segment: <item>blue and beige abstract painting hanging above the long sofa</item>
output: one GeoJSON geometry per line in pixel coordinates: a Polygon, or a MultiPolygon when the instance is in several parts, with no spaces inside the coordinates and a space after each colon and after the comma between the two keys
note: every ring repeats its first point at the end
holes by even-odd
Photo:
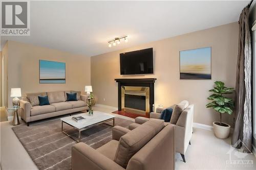
{"type": "Polygon", "coordinates": [[[39,60],[39,83],[66,83],[66,63],[39,60]]]}

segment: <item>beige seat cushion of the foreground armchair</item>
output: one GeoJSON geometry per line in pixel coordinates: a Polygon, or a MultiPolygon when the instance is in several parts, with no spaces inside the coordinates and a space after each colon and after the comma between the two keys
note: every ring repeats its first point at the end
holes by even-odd
{"type": "Polygon", "coordinates": [[[115,159],[116,150],[118,147],[119,141],[117,140],[111,140],[108,143],[102,145],[102,147],[99,147],[97,151],[101,153],[102,155],[110,158],[111,160],[115,159]]]}

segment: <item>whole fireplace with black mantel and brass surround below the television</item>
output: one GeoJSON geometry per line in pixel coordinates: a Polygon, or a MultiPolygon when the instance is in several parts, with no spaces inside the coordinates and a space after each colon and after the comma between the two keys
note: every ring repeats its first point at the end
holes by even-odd
{"type": "Polygon", "coordinates": [[[118,110],[133,113],[154,111],[153,79],[115,79],[118,82],[118,110]]]}

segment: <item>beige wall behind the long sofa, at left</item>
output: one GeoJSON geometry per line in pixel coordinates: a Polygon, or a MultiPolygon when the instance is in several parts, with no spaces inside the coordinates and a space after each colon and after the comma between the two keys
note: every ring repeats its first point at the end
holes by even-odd
{"type": "MultiPolygon", "coordinates": [[[[29,92],[80,90],[91,84],[90,57],[75,55],[49,48],[16,41],[8,41],[8,96],[11,88],[22,88],[22,95],[29,92]],[[39,84],[39,60],[66,63],[65,84],[39,84]]],[[[8,99],[12,106],[12,98],[8,99]]]]}

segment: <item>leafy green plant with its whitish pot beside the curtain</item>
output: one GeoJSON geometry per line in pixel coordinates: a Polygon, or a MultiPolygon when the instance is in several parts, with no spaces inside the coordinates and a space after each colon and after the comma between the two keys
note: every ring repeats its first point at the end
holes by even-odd
{"type": "Polygon", "coordinates": [[[214,94],[211,94],[207,99],[211,102],[206,105],[206,108],[213,108],[220,113],[220,122],[214,122],[214,134],[220,139],[228,137],[230,132],[230,125],[223,123],[221,116],[222,113],[232,114],[234,108],[234,102],[231,98],[227,98],[225,94],[232,94],[234,88],[227,88],[221,81],[215,82],[214,89],[209,90],[214,94]]]}

